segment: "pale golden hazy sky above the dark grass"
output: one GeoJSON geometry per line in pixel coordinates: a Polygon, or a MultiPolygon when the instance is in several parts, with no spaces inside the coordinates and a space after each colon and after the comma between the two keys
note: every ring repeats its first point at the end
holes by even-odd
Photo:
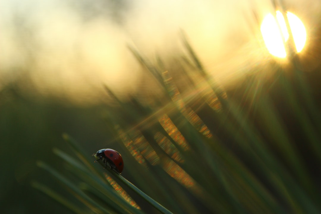
{"type": "MultiPolygon", "coordinates": [[[[43,95],[97,99],[94,94],[102,90],[102,83],[133,91],[139,64],[126,45],[135,45],[151,60],[156,53],[178,56],[180,29],[221,81],[237,78],[266,58],[256,38],[253,11],[261,21],[272,9],[269,0],[106,2],[1,1],[0,88],[28,73],[43,95]]],[[[320,14],[318,0],[290,2],[303,21],[311,23],[320,14]]]]}

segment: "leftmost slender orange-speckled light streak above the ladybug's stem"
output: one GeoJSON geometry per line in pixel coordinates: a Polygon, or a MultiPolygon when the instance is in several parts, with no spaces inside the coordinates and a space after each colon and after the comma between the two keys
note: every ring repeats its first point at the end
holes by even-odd
{"type": "Polygon", "coordinates": [[[142,154],[139,152],[139,150],[136,148],[133,141],[129,138],[129,136],[120,128],[119,125],[115,125],[115,130],[117,131],[117,134],[121,141],[124,143],[128,151],[132,154],[132,156],[136,159],[136,161],[140,164],[142,164],[144,167],[147,167],[145,163],[145,159],[142,156],[142,154]]]}

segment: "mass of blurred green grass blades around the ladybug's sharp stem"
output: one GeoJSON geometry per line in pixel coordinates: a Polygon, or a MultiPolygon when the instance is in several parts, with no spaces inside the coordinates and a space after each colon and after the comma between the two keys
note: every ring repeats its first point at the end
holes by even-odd
{"type": "Polygon", "coordinates": [[[320,111],[306,74],[299,66],[285,73],[274,64],[272,81],[250,75],[239,87],[223,91],[183,41],[188,56],[175,62],[188,88],[160,57],[154,65],[134,48],[163,97],[148,104],[136,97],[121,101],[105,87],[117,103],[106,115],[108,132],[123,156],[124,176],[138,190],[126,187],[122,176],[97,168],[66,135],[78,159],[58,149],[54,153],[73,176],[38,165],[85,210],[43,184],[33,186],[75,213],[157,213],[138,191],[173,213],[319,213],[320,111]]]}

